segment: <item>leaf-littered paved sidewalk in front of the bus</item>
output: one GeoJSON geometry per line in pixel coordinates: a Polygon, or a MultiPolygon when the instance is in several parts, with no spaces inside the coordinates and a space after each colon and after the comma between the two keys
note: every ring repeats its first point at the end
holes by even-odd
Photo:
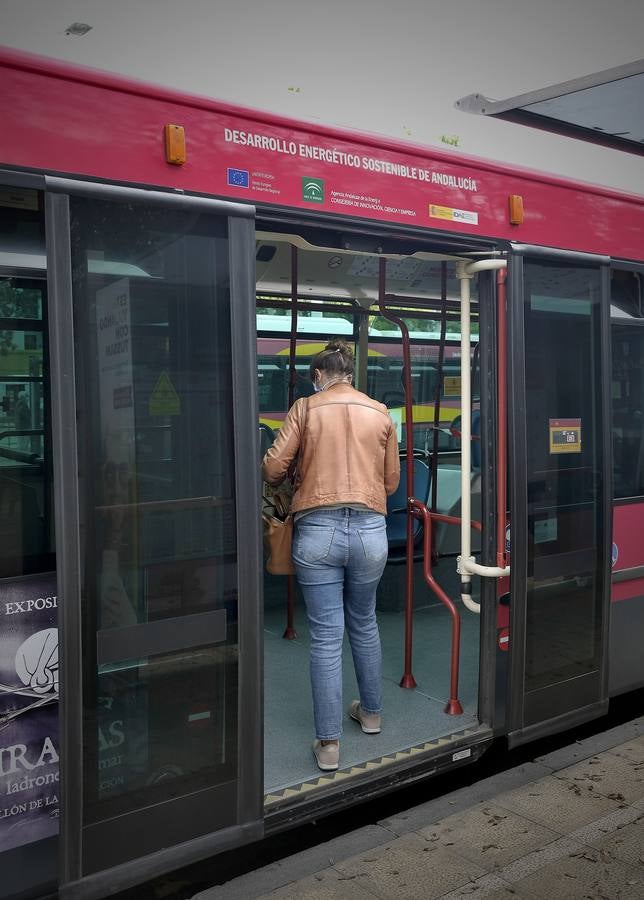
{"type": "Polygon", "coordinates": [[[193,900],[642,900],[644,717],[193,900]]]}

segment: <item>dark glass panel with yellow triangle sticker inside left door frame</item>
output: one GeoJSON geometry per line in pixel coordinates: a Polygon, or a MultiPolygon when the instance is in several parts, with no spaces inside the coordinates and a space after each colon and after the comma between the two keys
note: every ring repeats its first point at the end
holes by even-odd
{"type": "Polygon", "coordinates": [[[151,826],[123,826],[107,847],[88,837],[92,871],[236,822],[227,219],[72,198],[71,251],[84,824],[211,791],[162,838],[151,826]]]}

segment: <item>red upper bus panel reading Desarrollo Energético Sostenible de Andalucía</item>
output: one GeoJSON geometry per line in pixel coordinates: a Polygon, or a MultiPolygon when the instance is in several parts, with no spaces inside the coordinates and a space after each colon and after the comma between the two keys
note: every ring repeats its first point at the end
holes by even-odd
{"type": "Polygon", "coordinates": [[[0,48],[0,78],[3,166],[642,256],[642,196],[290,121],[7,48],[0,48]],[[183,166],[165,161],[171,123],[185,128],[183,166]],[[523,197],[522,225],[509,223],[511,194],[523,197]]]}

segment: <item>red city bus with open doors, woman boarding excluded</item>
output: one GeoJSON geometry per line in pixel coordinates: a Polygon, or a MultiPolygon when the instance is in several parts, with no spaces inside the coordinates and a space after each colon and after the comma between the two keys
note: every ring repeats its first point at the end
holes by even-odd
{"type": "Polygon", "coordinates": [[[0,71],[8,895],[106,896],[644,684],[643,197],[0,71]],[[320,778],[259,460],[338,333],[405,477],[383,731],[320,778]]]}

